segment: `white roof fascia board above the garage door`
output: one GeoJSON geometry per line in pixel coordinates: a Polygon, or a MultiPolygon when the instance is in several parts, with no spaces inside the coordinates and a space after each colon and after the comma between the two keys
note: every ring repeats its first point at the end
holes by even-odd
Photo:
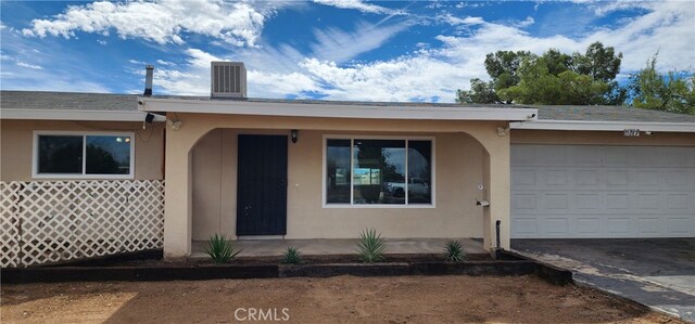
{"type": "Polygon", "coordinates": [[[695,122],[534,120],[510,122],[509,127],[511,129],[529,130],[623,131],[626,129],[639,129],[641,131],[695,132],[695,122]]]}

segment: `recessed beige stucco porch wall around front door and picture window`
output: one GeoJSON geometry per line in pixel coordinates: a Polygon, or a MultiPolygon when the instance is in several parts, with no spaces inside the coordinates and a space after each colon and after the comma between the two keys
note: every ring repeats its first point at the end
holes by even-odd
{"type": "MultiPolygon", "coordinates": [[[[216,129],[193,148],[193,239],[236,235],[237,135],[287,130],[216,129]]],[[[386,237],[482,237],[482,146],[464,133],[300,131],[288,146],[287,238],[357,237],[365,228],[386,237]],[[434,139],[434,208],[321,206],[324,135],[418,135],[434,139]]]]}

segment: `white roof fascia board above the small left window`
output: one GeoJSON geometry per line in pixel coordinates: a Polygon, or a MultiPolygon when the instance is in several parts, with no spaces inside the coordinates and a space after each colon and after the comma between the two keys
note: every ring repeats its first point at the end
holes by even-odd
{"type": "MultiPolygon", "coordinates": [[[[143,121],[146,115],[144,112],[132,111],[0,109],[0,119],[143,121]]],[[[165,120],[166,117],[154,115],[154,121],[165,120]]]]}

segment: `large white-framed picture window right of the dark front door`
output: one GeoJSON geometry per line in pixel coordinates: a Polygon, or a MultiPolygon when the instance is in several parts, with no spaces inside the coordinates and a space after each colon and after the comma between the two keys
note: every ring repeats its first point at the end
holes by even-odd
{"type": "Polygon", "coordinates": [[[327,139],[326,205],[432,204],[432,140],[327,139]]]}

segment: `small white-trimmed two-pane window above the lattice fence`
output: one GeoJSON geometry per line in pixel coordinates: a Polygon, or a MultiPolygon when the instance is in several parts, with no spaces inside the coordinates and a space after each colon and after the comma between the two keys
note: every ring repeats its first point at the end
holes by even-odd
{"type": "Polygon", "coordinates": [[[134,133],[36,132],[35,178],[131,179],[134,133]]]}

